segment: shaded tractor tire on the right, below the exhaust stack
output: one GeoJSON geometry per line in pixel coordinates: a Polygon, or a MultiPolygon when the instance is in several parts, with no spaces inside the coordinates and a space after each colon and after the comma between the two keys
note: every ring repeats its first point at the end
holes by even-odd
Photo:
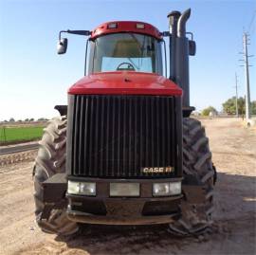
{"type": "Polygon", "coordinates": [[[182,216],[170,224],[170,231],[177,235],[202,234],[212,224],[216,172],[211,162],[205,129],[200,121],[193,118],[183,118],[183,174],[191,174],[198,182],[203,183],[206,195],[200,204],[190,203],[184,197],[180,207],[182,216]]]}

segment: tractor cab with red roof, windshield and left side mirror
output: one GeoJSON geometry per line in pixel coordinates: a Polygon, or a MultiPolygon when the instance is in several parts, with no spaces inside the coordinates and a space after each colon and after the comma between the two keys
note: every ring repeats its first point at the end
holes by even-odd
{"type": "MultiPolygon", "coordinates": [[[[152,25],[133,21],[108,22],[89,33],[87,45],[89,43],[90,50],[85,75],[110,71],[163,75],[163,39],[152,25]]],[[[64,53],[66,46],[59,46],[58,52],[64,53]]]]}

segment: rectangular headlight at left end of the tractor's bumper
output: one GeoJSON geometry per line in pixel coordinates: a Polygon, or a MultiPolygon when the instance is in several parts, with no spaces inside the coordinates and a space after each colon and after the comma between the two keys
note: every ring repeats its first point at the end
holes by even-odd
{"type": "Polygon", "coordinates": [[[69,194],[83,194],[83,195],[96,195],[95,182],[67,182],[67,193],[69,194]]]}

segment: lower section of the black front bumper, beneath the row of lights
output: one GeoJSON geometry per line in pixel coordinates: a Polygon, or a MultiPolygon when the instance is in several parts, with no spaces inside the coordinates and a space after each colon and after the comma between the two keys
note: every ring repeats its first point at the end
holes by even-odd
{"type": "Polygon", "coordinates": [[[170,223],[179,216],[181,195],[163,199],[99,200],[68,196],[68,218],[75,222],[109,225],[146,225],[170,223]]]}

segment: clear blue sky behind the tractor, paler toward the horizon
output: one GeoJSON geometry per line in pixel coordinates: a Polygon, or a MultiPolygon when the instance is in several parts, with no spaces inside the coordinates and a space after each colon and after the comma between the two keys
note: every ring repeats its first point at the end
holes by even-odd
{"type": "MultiPolygon", "coordinates": [[[[245,95],[239,67],[243,29],[256,1],[4,1],[0,0],[0,120],[52,118],[66,103],[67,88],[83,75],[85,41],[69,36],[68,50],[57,55],[61,29],[93,29],[105,21],[139,20],[168,29],[166,15],[192,8],[188,31],[197,43],[191,58],[191,104],[197,110],[245,95]]],[[[249,53],[256,56],[256,17],[250,26],[249,53]]],[[[250,59],[251,100],[256,100],[256,57],[250,59]]]]}

